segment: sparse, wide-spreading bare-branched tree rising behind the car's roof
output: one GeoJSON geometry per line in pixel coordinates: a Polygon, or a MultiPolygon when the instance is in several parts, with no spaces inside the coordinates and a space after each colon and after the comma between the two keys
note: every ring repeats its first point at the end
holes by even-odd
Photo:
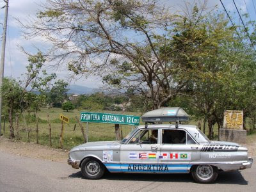
{"type": "Polygon", "coordinates": [[[52,42],[45,55],[56,65],[68,63],[75,75],[104,76],[116,89],[133,88],[156,109],[187,83],[177,76],[180,63],[166,54],[177,19],[154,0],[48,0],[35,20],[20,24],[28,38],[52,42]]]}

